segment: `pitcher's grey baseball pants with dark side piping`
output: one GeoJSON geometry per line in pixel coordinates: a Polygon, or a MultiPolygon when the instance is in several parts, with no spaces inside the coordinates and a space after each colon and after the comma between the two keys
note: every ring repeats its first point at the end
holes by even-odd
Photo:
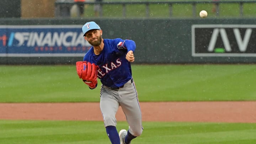
{"type": "Polygon", "coordinates": [[[122,107],[126,116],[129,132],[134,136],[140,136],[143,131],[142,113],[133,80],[129,80],[120,89],[110,89],[109,87],[101,86],[100,109],[105,127],[116,127],[116,113],[119,106],[122,107]]]}

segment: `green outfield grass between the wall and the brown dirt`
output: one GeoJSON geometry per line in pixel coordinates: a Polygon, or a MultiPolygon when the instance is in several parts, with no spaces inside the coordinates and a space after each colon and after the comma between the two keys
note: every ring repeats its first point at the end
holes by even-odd
{"type": "MultiPolygon", "coordinates": [[[[140,101],[256,100],[255,65],[132,65],[140,101]]],[[[75,65],[0,66],[0,102],[98,102],[75,65]]]]}

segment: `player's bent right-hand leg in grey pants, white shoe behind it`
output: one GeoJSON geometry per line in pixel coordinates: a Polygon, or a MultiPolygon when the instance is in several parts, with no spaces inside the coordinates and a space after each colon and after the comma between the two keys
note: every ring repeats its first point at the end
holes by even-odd
{"type": "Polygon", "coordinates": [[[129,124],[125,137],[126,143],[129,143],[132,139],[142,134],[142,113],[134,83],[126,84],[123,90],[119,92],[119,96],[122,97],[122,100],[119,102],[129,124]]]}

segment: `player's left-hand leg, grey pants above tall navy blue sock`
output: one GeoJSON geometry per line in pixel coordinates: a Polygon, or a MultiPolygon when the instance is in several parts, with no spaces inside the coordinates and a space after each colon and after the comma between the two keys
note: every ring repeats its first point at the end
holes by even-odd
{"type": "Polygon", "coordinates": [[[106,127],[108,138],[112,144],[120,144],[119,134],[116,129],[116,112],[119,103],[113,93],[101,88],[100,109],[106,127]]]}

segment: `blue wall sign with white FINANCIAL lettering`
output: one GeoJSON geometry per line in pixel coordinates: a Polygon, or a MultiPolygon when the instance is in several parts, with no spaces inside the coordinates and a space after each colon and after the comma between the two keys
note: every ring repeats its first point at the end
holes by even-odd
{"type": "Polygon", "coordinates": [[[0,57],[81,57],[90,47],[80,25],[0,26],[0,57]]]}

